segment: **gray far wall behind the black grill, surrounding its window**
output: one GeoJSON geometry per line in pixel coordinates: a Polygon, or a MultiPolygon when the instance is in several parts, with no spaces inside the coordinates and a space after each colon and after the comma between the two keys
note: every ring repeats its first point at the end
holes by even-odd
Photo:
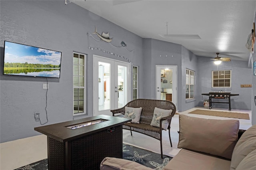
{"type": "MultiPolygon", "coordinates": [[[[212,71],[213,70],[232,70],[232,88],[222,89],[227,92],[239,94],[239,96],[231,97],[231,108],[240,110],[251,110],[251,88],[241,88],[241,84],[250,84],[251,82],[251,69],[248,68],[247,61],[231,60],[230,62],[222,62],[220,65],[215,65],[212,60],[207,57],[198,57],[198,74],[197,82],[200,85],[198,88],[197,105],[203,106],[204,99],[209,99],[208,96],[202,96],[201,93],[208,93],[210,91],[219,91],[220,89],[212,88],[212,71]]],[[[219,100],[220,101],[220,100],[219,100]]],[[[227,100],[223,100],[228,102],[227,100]]],[[[212,103],[212,107],[228,108],[225,103],[212,103]]]]}

